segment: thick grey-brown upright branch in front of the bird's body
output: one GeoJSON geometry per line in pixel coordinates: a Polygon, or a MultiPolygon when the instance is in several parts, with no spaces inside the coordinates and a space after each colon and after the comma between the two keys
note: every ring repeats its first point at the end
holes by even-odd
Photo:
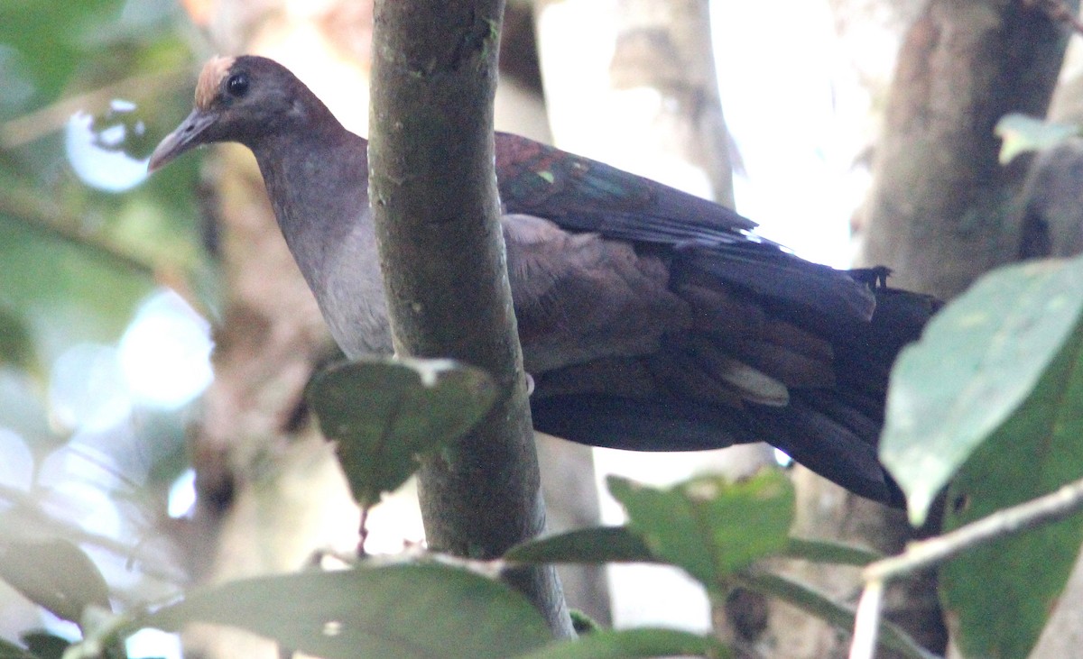
{"type": "MultiPolygon", "coordinates": [[[[430,546],[472,557],[498,556],[545,525],[493,170],[503,10],[503,0],[383,0],[373,37],[369,185],[395,351],[461,359],[504,392],[420,472],[430,546]]],[[[508,579],[554,632],[571,633],[551,568],[508,579]]]]}

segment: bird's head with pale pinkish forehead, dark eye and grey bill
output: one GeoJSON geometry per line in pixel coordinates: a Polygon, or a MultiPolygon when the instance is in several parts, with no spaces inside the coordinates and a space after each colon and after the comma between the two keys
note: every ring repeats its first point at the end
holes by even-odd
{"type": "MultiPolygon", "coordinates": [[[[199,74],[195,108],[151,155],[154,171],[181,154],[214,142],[249,148],[288,130],[314,109],[315,96],[286,67],[266,57],[214,57],[199,74]]],[[[318,101],[316,111],[325,110],[318,101]]]]}

